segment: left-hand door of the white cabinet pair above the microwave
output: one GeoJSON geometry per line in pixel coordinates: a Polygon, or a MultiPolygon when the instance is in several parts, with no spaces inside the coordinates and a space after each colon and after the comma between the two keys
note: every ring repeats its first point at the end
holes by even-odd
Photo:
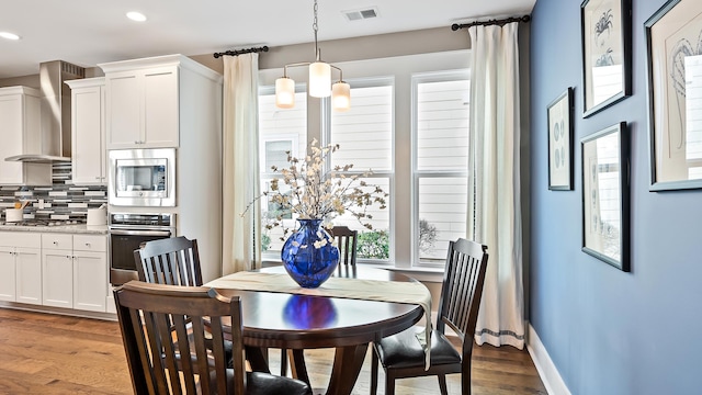
{"type": "Polygon", "coordinates": [[[106,77],[107,148],[134,148],[144,139],[141,82],[136,72],[106,77]]]}

